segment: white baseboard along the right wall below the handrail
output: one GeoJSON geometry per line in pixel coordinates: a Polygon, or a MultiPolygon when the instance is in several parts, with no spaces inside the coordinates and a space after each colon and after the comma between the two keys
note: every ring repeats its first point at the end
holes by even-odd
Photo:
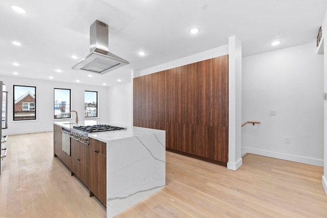
{"type": "Polygon", "coordinates": [[[244,147],[242,151],[243,151],[243,153],[257,154],[257,155],[273,157],[273,158],[278,158],[278,159],[283,159],[283,160],[290,160],[290,161],[299,162],[299,163],[306,163],[306,164],[315,165],[315,166],[323,166],[323,160],[309,158],[309,157],[301,157],[301,156],[296,156],[296,155],[283,154],[283,153],[278,153],[278,152],[271,152],[271,151],[252,149],[252,148],[246,148],[246,147],[244,147]]]}

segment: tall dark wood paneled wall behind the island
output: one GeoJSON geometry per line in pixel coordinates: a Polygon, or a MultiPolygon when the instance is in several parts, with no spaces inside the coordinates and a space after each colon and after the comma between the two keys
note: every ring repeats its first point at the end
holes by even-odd
{"type": "Polygon", "coordinates": [[[166,130],[169,150],[228,162],[228,55],[133,79],[134,126],[166,130]]]}

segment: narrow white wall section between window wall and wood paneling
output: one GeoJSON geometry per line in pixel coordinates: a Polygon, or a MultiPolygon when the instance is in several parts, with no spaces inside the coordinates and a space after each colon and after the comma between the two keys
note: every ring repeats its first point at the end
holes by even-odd
{"type": "Polygon", "coordinates": [[[110,86],[107,101],[109,123],[132,126],[132,83],[110,86]]]}

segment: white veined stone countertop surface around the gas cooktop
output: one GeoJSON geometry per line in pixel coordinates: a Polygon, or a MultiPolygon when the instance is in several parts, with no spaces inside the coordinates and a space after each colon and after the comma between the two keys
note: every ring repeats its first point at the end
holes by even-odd
{"type": "Polygon", "coordinates": [[[141,135],[147,135],[152,134],[156,132],[165,132],[164,130],[156,130],[156,129],[148,129],[148,128],[142,128],[142,127],[133,127],[133,126],[126,126],[126,125],[120,125],[120,124],[109,124],[106,122],[100,122],[97,120],[82,120],[78,123],[78,125],[70,122],[54,122],[54,124],[64,128],[71,130],[75,126],[92,126],[92,125],[98,125],[98,124],[106,124],[116,127],[124,127],[127,128],[126,130],[114,130],[114,131],[106,131],[106,132],[96,132],[96,133],[88,133],[88,137],[97,139],[99,141],[103,141],[105,143],[122,139],[122,138],[129,138],[129,137],[135,137],[135,136],[141,136],[141,135]]]}

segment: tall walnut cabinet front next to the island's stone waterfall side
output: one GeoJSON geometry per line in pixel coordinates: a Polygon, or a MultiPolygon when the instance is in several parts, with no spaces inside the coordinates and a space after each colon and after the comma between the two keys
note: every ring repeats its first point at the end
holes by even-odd
{"type": "Polygon", "coordinates": [[[106,143],[90,138],[89,139],[90,157],[90,196],[97,199],[106,207],[107,200],[107,161],[106,143]]]}

